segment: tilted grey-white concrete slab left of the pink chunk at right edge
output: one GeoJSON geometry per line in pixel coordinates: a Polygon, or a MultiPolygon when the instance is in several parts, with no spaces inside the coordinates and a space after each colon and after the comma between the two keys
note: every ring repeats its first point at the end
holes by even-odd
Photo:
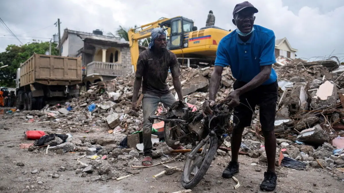
{"type": "Polygon", "coordinates": [[[315,125],[312,128],[302,130],[297,140],[307,144],[322,145],[324,142],[329,142],[331,137],[326,135],[320,125],[315,125]]]}

